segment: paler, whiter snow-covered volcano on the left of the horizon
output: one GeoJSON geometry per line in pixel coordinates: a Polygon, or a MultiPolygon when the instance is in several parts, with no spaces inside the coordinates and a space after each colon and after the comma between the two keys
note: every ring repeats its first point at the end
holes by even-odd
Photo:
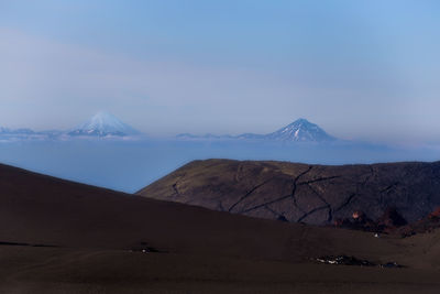
{"type": "Polygon", "coordinates": [[[122,122],[113,115],[107,112],[98,112],[87,122],[78,126],[69,132],[70,135],[134,135],[140,132],[129,124],[122,122]]]}

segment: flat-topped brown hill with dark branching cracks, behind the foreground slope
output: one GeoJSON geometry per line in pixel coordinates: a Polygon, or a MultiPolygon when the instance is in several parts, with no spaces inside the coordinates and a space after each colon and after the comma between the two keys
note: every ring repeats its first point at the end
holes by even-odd
{"type": "Polygon", "coordinates": [[[440,162],[306,165],[287,162],[195,161],[138,193],[253,217],[329,224],[388,207],[409,222],[440,205],[440,162]]]}

